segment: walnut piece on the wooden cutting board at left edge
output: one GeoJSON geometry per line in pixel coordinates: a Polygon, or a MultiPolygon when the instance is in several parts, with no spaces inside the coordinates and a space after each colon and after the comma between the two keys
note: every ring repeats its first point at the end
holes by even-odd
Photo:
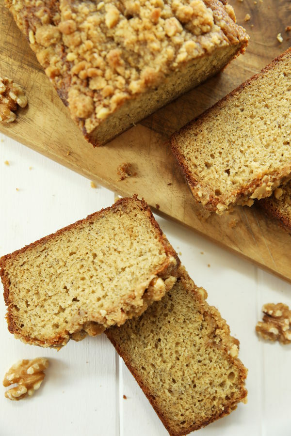
{"type": "Polygon", "coordinates": [[[13,80],[0,77],[0,121],[3,123],[15,121],[14,111],[17,109],[17,105],[21,108],[25,108],[27,105],[24,90],[13,80]]]}

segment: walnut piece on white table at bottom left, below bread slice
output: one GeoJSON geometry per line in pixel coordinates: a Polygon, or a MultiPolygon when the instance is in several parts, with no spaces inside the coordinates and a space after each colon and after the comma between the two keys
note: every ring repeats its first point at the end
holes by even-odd
{"type": "Polygon", "coordinates": [[[5,397],[9,400],[22,400],[27,395],[32,395],[39,389],[45,378],[44,370],[49,366],[46,358],[35,358],[32,360],[19,360],[5,374],[3,386],[17,384],[16,387],[6,390],[5,397]]]}

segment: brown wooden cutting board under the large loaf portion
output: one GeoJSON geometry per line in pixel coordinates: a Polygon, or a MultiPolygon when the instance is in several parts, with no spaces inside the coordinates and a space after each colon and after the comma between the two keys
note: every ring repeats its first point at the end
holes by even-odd
{"type": "MultiPolygon", "coordinates": [[[[178,98],[104,147],[93,148],[71,121],[67,109],[36,61],[26,39],[0,0],[0,76],[25,89],[29,105],[16,122],[0,125],[7,136],[79,172],[122,196],[144,197],[157,213],[173,218],[256,265],[291,281],[291,237],[258,207],[237,207],[207,218],[180,175],[169,136],[209,108],[290,46],[290,0],[232,0],[238,23],[251,40],[244,56],[202,86],[178,98]],[[244,21],[246,14],[250,15],[244,21]],[[277,34],[284,41],[279,43],[277,34]],[[119,180],[127,162],[134,175],[119,180]]],[[[193,262],[195,260],[193,259],[193,262]]]]}

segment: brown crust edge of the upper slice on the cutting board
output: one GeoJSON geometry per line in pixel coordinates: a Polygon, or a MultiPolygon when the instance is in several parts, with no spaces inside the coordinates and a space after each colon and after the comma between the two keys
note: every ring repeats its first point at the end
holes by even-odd
{"type": "MultiPolygon", "coordinates": [[[[185,177],[189,188],[195,198],[195,200],[199,201],[197,197],[195,196],[194,190],[197,184],[199,183],[198,179],[194,177],[192,172],[189,170],[187,162],[185,157],[182,155],[182,153],[179,150],[178,147],[178,137],[180,135],[183,135],[184,133],[188,132],[194,126],[195,124],[203,124],[205,119],[207,118],[208,114],[213,109],[220,109],[223,107],[225,103],[227,103],[232,97],[236,96],[239,93],[242,93],[242,91],[252,84],[255,80],[262,77],[267,71],[273,69],[275,65],[281,61],[283,61],[286,57],[291,56],[291,48],[288,48],[285,52],[277,56],[272,62],[270,62],[268,65],[266,65],[260,73],[255,74],[251,78],[247,79],[245,82],[243,82],[241,85],[239,85],[236,89],[231,91],[229,94],[227,94],[224,98],[219,100],[217,103],[215,103],[213,106],[211,106],[209,109],[205,110],[202,114],[198,115],[194,120],[187,123],[185,126],[183,126],[178,132],[175,132],[171,137],[171,148],[172,152],[176,158],[176,161],[178,162],[178,165],[181,169],[181,172],[183,176],[185,177]]],[[[270,180],[277,180],[282,179],[282,184],[285,184],[290,179],[290,173],[291,173],[291,164],[288,167],[285,167],[281,172],[273,172],[269,174],[270,180]]],[[[236,203],[239,203],[240,199],[248,198],[250,192],[253,192],[255,188],[260,187],[262,183],[262,178],[264,174],[260,178],[256,178],[248,185],[245,185],[241,187],[239,190],[235,190],[232,192],[232,195],[235,195],[237,197],[236,203]]],[[[212,192],[209,193],[209,202],[204,205],[204,207],[210,211],[216,211],[217,210],[217,204],[221,202],[221,198],[219,196],[213,195],[212,192]]]]}

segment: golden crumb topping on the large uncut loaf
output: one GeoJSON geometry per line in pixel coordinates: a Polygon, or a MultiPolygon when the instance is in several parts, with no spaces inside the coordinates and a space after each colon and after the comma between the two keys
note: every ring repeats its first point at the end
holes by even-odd
{"type": "Polygon", "coordinates": [[[6,3],[87,133],[181,64],[239,39],[230,24],[232,7],[215,16],[209,1],[55,0],[50,8],[45,0],[6,3]]]}

